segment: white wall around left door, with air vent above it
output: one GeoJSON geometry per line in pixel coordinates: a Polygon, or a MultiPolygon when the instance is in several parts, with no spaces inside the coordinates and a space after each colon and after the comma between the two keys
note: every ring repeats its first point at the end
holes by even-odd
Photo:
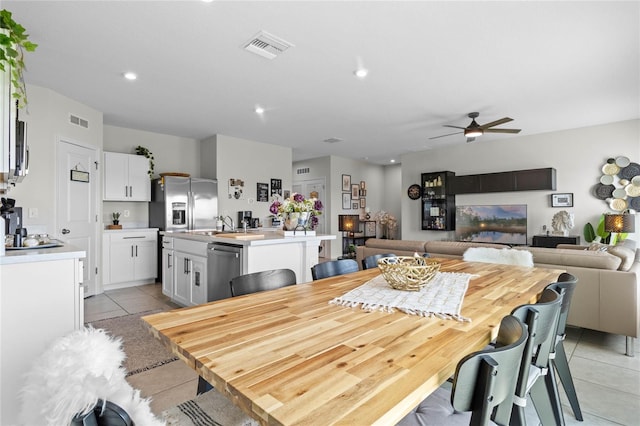
{"type": "Polygon", "coordinates": [[[24,226],[29,233],[56,235],[56,158],[58,140],[102,149],[102,113],[52,90],[27,85],[29,105],[20,111],[27,122],[29,174],[5,197],[15,198],[23,208],[24,226]],[[85,129],[69,122],[69,114],[89,122],[85,129]],[[29,208],[38,209],[38,217],[30,218],[29,208]]]}

